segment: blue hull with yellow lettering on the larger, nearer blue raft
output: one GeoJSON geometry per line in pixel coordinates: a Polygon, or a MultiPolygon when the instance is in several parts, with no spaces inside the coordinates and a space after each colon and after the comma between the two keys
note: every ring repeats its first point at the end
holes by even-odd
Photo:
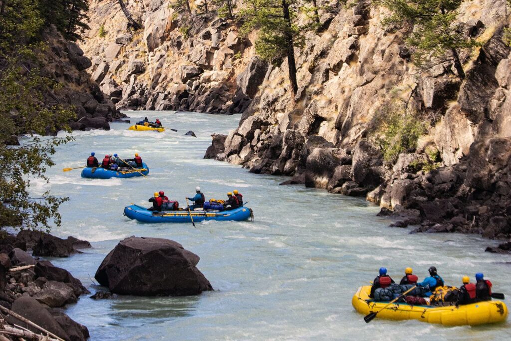
{"type": "MultiPolygon", "coordinates": [[[[248,220],[251,217],[251,210],[240,207],[230,211],[191,211],[193,221],[203,220],[248,220]]],[[[124,208],[124,215],[130,219],[141,222],[192,222],[188,210],[182,211],[160,211],[153,212],[148,209],[131,204],[124,208]]]]}

